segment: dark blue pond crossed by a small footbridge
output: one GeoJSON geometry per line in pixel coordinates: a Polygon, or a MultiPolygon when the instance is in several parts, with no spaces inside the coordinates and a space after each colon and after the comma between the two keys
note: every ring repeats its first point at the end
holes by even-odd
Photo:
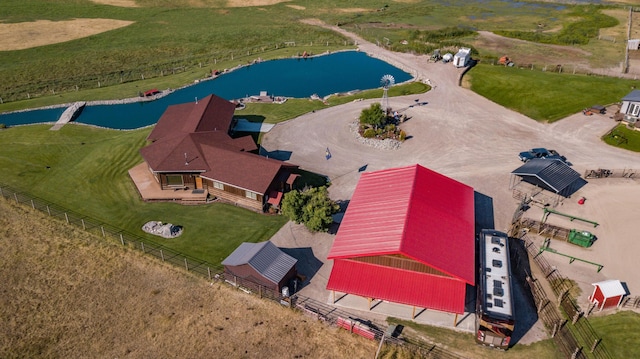
{"type": "MultiPolygon", "coordinates": [[[[86,106],[75,122],[113,129],[135,129],[158,121],[167,106],[193,102],[210,94],[227,100],[258,95],[306,98],[380,87],[384,75],[396,83],[412,76],[384,61],[358,51],[330,55],[263,61],[244,66],[214,79],[179,89],[155,101],[86,106]]],[[[41,109],[0,115],[7,126],[55,122],[64,108],[41,109]]]]}

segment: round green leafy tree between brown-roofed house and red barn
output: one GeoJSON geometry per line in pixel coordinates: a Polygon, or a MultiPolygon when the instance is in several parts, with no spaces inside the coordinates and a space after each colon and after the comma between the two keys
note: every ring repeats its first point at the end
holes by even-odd
{"type": "Polygon", "coordinates": [[[284,195],[282,214],[312,232],[326,232],[333,223],[332,215],[340,207],[329,198],[327,188],[315,187],[304,191],[293,190],[284,195]]]}

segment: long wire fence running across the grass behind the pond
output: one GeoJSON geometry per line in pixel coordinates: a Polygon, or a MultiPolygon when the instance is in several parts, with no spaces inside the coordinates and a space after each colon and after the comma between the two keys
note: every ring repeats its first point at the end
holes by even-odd
{"type": "Polygon", "coordinates": [[[305,51],[312,54],[314,50],[320,52],[328,47],[349,45],[355,44],[347,40],[296,39],[254,46],[237,51],[224,51],[207,55],[173,58],[165,62],[158,62],[153,65],[140,66],[133,69],[69,76],[64,79],[15,83],[2,90],[2,93],[0,93],[0,103],[73,92],[81,89],[86,90],[119,85],[126,82],[147,80],[191,70],[201,70],[203,78],[206,78],[212,76],[212,73],[216,70],[223,71],[224,69],[219,69],[222,63],[237,62],[239,64],[250,64],[260,61],[260,57],[265,56],[269,52],[283,48],[300,48],[302,53],[299,53],[298,56],[302,56],[305,51]]]}

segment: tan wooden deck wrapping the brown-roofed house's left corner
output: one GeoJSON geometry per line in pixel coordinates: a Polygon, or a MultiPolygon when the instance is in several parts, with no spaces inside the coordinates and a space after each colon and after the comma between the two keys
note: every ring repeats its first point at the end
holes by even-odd
{"type": "Polygon", "coordinates": [[[138,193],[140,193],[144,201],[206,203],[209,195],[207,190],[194,191],[192,188],[160,189],[158,182],[144,162],[130,169],[129,177],[131,177],[133,183],[135,183],[138,193]]]}

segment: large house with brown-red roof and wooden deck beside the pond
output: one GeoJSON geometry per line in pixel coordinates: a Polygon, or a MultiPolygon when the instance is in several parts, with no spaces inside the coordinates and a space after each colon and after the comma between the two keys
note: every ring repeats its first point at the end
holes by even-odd
{"type": "Polygon", "coordinates": [[[279,207],[297,166],[256,154],[251,136],[230,136],[234,111],[215,95],[168,107],[140,150],[144,163],[129,171],[142,197],[215,198],[259,212],[279,207]]]}

